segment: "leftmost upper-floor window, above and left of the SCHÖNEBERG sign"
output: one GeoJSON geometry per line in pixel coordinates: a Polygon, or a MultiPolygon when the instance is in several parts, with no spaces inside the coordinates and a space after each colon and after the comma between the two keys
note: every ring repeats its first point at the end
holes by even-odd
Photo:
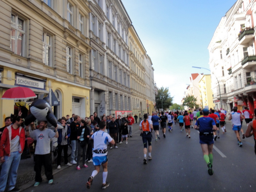
{"type": "Polygon", "coordinates": [[[17,55],[24,56],[24,20],[17,15],[11,16],[11,50],[17,55]]]}

